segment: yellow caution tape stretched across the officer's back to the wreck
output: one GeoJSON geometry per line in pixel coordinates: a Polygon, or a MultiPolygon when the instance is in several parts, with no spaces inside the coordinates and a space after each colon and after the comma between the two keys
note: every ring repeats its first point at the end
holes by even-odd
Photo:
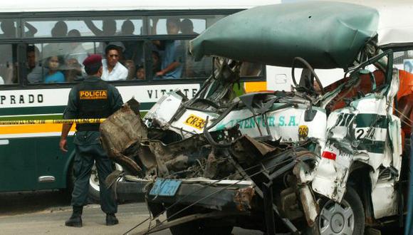
{"type": "Polygon", "coordinates": [[[51,119],[51,120],[0,120],[0,125],[36,125],[36,124],[90,124],[102,123],[105,118],[90,119],[51,119]]]}

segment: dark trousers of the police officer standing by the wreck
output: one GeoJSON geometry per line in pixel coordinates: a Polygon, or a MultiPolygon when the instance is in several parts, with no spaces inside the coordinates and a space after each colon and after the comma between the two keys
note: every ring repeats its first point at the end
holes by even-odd
{"type": "Polygon", "coordinates": [[[110,162],[105,150],[99,144],[75,145],[74,176],[75,187],[72,192],[72,206],[83,206],[86,204],[89,192],[90,172],[93,162],[96,162],[100,185],[100,208],[105,213],[116,213],[117,204],[113,192],[105,186],[105,179],[112,172],[110,162]]]}

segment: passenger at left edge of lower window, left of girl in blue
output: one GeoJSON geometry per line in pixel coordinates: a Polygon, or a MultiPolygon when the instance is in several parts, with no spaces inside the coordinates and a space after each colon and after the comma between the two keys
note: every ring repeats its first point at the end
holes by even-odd
{"type": "Polygon", "coordinates": [[[39,64],[40,61],[40,51],[34,45],[27,46],[26,48],[27,56],[27,81],[28,83],[41,83],[43,82],[43,77],[48,73],[47,68],[42,68],[39,64]]]}

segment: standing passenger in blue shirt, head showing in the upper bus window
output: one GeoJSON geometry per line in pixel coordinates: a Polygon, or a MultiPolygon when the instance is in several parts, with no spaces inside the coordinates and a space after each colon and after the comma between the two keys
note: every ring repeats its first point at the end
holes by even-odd
{"type": "MultiPolygon", "coordinates": [[[[179,25],[181,21],[178,18],[167,19],[167,33],[179,33],[179,25]]],[[[180,40],[165,40],[155,41],[160,49],[164,49],[162,55],[161,70],[156,73],[162,78],[181,78],[182,75],[182,59],[183,46],[180,40]]]]}

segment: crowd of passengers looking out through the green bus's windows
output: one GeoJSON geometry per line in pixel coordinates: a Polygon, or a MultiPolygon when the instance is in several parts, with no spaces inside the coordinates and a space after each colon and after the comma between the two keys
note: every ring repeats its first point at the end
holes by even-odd
{"type": "MultiPolygon", "coordinates": [[[[130,20],[122,23],[120,32],[116,32],[115,20],[104,20],[102,30],[92,21],[85,21],[85,24],[96,36],[127,36],[135,31],[130,20]]],[[[156,25],[157,21],[151,28],[153,33],[156,33],[156,25]]],[[[181,21],[179,18],[169,18],[166,27],[168,34],[197,34],[190,19],[181,21]]],[[[68,31],[66,23],[58,21],[51,30],[51,36],[77,38],[80,32],[76,29],[68,31]]],[[[150,73],[145,73],[143,41],[109,41],[97,45],[95,50],[103,54],[102,79],[107,81],[145,80],[147,74],[155,79],[205,77],[211,70],[211,61],[195,62],[189,56],[188,41],[184,40],[152,41],[147,46],[152,57],[150,73]]],[[[81,80],[85,76],[82,63],[88,54],[80,42],[49,43],[41,51],[36,45],[27,46],[27,82],[63,83],[81,80]]],[[[17,82],[16,78],[9,80],[11,83],[17,82]]]]}

